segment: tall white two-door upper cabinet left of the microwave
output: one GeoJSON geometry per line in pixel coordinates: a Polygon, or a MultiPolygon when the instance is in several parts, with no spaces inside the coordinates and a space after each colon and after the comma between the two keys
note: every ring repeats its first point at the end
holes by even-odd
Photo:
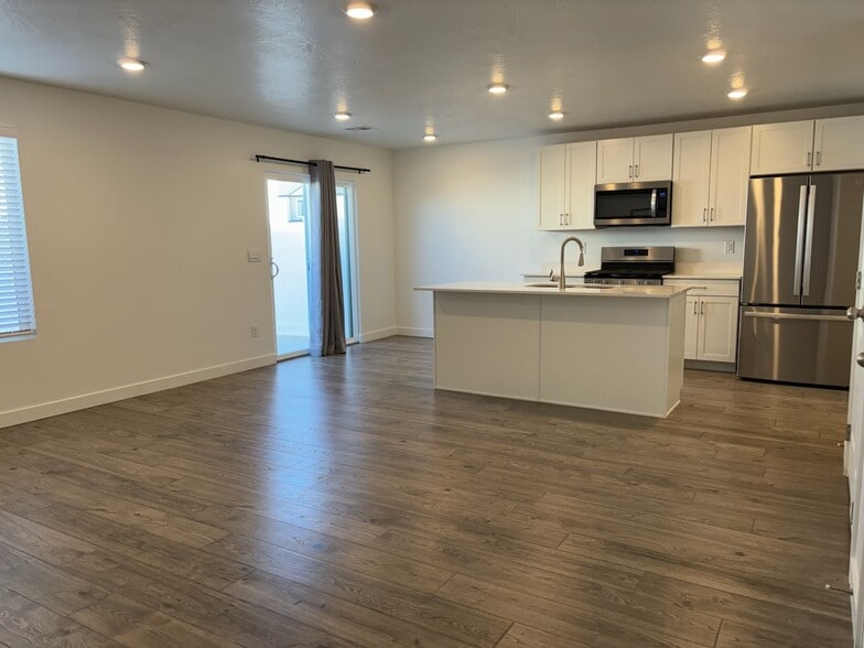
{"type": "Polygon", "coordinates": [[[593,229],[596,142],[540,150],[540,229],[593,229]]]}

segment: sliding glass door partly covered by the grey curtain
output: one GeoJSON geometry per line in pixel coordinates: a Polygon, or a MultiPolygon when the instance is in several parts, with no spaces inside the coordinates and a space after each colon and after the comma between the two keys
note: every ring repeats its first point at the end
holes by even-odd
{"type": "MultiPolygon", "coordinates": [[[[280,359],[309,353],[309,175],[267,176],[267,207],[273,277],[276,350],[280,359]]],[[[345,300],[345,337],[354,342],[355,198],[354,184],[336,183],[339,256],[345,300]]]]}

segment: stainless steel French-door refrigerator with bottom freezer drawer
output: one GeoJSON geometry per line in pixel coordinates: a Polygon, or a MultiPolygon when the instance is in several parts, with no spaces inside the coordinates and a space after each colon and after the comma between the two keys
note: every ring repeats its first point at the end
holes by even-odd
{"type": "Polygon", "coordinates": [[[849,387],[864,173],[754,177],[738,376],[849,387]]]}

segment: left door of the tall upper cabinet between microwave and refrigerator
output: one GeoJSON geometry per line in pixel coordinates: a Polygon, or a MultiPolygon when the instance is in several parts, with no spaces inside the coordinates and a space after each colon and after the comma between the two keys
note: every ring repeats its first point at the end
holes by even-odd
{"type": "Polygon", "coordinates": [[[705,225],[711,177],[711,131],[676,133],[673,161],[672,227],[705,225]]]}

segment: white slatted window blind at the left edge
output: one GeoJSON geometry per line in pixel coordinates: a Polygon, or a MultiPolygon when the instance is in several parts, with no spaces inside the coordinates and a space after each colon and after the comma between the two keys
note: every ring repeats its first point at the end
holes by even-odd
{"type": "Polygon", "coordinates": [[[18,139],[0,131],[0,338],[35,327],[18,139]]]}

